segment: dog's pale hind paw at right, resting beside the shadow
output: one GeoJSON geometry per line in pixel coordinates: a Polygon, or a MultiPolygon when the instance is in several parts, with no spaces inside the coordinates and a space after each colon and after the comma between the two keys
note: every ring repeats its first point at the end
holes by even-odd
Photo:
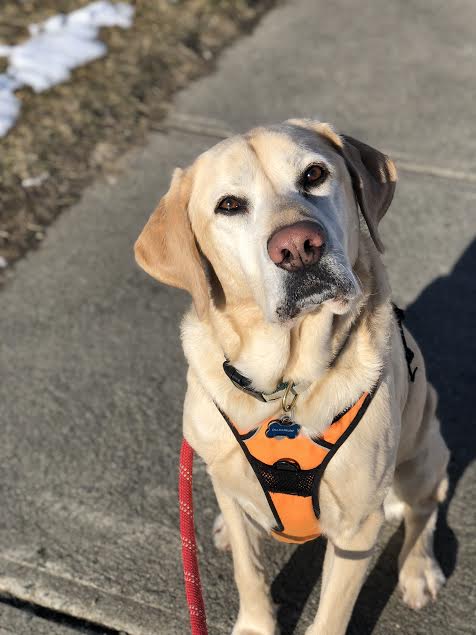
{"type": "Polygon", "coordinates": [[[403,601],[415,610],[423,608],[430,600],[436,600],[445,582],[439,564],[431,556],[408,558],[399,575],[403,601]]]}

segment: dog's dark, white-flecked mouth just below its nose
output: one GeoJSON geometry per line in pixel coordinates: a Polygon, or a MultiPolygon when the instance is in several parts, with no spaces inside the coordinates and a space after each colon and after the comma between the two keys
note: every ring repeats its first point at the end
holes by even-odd
{"type": "Polygon", "coordinates": [[[285,272],[284,298],[276,308],[280,322],[315,311],[328,300],[344,312],[358,292],[354,275],[332,256],[323,256],[313,267],[285,272]]]}

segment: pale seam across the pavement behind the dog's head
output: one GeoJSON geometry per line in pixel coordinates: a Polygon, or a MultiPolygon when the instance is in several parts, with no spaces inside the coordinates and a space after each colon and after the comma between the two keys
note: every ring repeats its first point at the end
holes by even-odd
{"type": "MultiPolygon", "coordinates": [[[[186,113],[174,113],[173,115],[169,115],[158,129],[162,131],[177,130],[185,134],[213,137],[216,139],[227,139],[236,134],[231,128],[227,127],[225,122],[217,119],[187,115],[186,113]]],[[[392,150],[385,150],[385,154],[395,159],[398,170],[402,172],[421,174],[450,181],[462,181],[471,185],[476,184],[476,174],[472,174],[471,172],[445,168],[431,163],[419,163],[407,155],[392,150]]]]}

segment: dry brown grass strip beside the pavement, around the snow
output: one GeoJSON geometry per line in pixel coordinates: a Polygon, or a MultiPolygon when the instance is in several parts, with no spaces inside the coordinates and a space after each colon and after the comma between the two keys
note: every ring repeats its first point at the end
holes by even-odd
{"type": "MultiPolygon", "coordinates": [[[[88,2],[3,0],[0,42],[18,43],[28,24],[88,2]]],[[[207,72],[220,48],[250,29],[273,0],[131,3],[134,26],[102,32],[105,58],[50,91],[18,93],[20,119],[0,140],[0,256],[9,263],[38,244],[93,176],[140,143],[172,93],[207,72]],[[25,179],[37,177],[38,185],[25,187],[25,179]]]]}

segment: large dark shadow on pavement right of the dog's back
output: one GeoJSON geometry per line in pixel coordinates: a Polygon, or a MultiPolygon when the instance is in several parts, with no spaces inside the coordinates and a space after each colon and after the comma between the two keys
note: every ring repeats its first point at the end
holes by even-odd
{"type": "Polygon", "coordinates": [[[451,452],[450,491],[436,533],[436,553],[446,576],[456,565],[458,542],[446,512],[458,481],[476,457],[472,396],[476,386],[476,240],[450,275],[437,278],[407,310],[428,376],[439,395],[438,415],[451,452]]]}

